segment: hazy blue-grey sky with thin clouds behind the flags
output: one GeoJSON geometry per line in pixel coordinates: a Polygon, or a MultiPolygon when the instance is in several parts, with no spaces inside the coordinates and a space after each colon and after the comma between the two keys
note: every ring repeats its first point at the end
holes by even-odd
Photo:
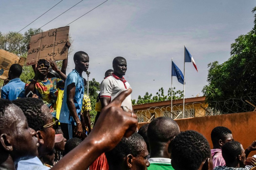
{"type": "MultiPolygon", "coordinates": [[[[61,0],[1,0],[0,32],[17,32],[61,0]]],[[[39,28],[81,0],[63,0],[26,27],[39,28]]],[[[105,0],[83,0],[42,27],[43,31],[67,25],[105,0]]],[[[117,56],[127,60],[125,79],[132,87],[132,99],[146,92],[156,94],[171,87],[171,58],[184,70],[184,45],[193,56],[185,63],[185,98],[202,96],[208,84],[207,64],[223,63],[230,57],[230,45],[254,26],[254,0],[108,0],[71,23],[74,52],[90,57],[89,80],[101,82],[117,56]]],[[[69,56],[67,72],[74,68],[69,56]]],[[[86,73],[83,76],[87,78],[86,73]]],[[[183,84],[173,77],[173,87],[183,84]]]]}

